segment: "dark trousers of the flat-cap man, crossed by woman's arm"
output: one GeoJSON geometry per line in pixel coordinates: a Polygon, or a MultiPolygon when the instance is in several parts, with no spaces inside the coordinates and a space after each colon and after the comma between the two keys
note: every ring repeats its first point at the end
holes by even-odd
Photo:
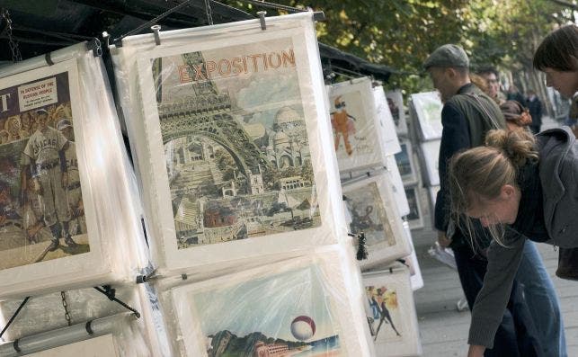
{"type": "MultiPolygon", "coordinates": [[[[458,266],[459,281],[466,294],[470,311],[476,296],[484,284],[487,261],[474,254],[469,245],[453,248],[458,266]]],[[[508,308],[503,314],[502,324],[494,337],[494,348],[485,350],[485,357],[499,356],[540,356],[542,348],[538,342],[538,332],[529,314],[522,288],[514,281],[508,308]]]]}

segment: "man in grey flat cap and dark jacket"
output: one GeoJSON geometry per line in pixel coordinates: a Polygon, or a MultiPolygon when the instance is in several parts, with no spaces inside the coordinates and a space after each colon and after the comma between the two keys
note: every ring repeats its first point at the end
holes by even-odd
{"type": "MultiPolygon", "coordinates": [[[[484,145],[488,130],[505,129],[506,125],[502,112],[494,100],[470,82],[469,58],[464,49],[454,44],[443,45],[431,53],[423,63],[423,67],[429,72],[433,86],[440,92],[441,101],[444,103],[441,111],[443,130],[439,156],[440,192],[435,204],[435,228],[438,230],[440,245],[450,246],[454,251],[459,280],[471,310],[478,292],[482,289],[487,266],[482,249],[489,245],[489,239],[481,226],[476,227],[476,244],[480,245],[480,249],[475,250],[470,245],[472,237],[451,221],[448,163],[449,158],[458,151],[484,145]],[[480,238],[485,238],[485,242],[480,242],[480,238]]],[[[517,284],[514,289],[520,291],[520,284],[518,282],[514,284],[517,284]]],[[[521,299],[515,302],[520,302],[526,308],[525,311],[528,311],[521,293],[516,294],[512,290],[511,299],[521,299]]],[[[518,341],[522,341],[524,336],[522,332],[516,331],[514,318],[516,316],[513,315],[513,311],[507,310],[497,332],[489,333],[492,340],[495,335],[495,344],[492,350],[487,351],[489,353],[487,355],[519,355],[521,346],[518,341]],[[520,340],[517,340],[517,336],[520,340]]],[[[525,324],[522,322],[522,325],[525,324]]],[[[529,329],[535,334],[533,325],[529,329]]],[[[529,335],[529,338],[536,339],[534,335],[529,335]]],[[[527,344],[529,348],[534,348],[534,340],[527,344]]],[[[492,347],[492,344],[486,346],[492,347]]]]}

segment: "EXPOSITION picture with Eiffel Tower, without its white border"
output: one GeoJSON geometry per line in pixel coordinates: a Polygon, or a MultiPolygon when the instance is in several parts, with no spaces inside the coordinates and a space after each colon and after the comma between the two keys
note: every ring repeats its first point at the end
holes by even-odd
{"type": "Polygon", "coordinates": [[[179,249],[316,228],[290,38],[155,58],[179,249]]]}

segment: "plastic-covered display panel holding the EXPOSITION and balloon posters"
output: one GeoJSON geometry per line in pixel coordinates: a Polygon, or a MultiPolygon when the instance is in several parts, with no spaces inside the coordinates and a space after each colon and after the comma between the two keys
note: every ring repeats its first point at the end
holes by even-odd
{"type": "Polygon", "coordinates": [[[313,17],[111,47],[164,355],[374,355],[313,17]]]}

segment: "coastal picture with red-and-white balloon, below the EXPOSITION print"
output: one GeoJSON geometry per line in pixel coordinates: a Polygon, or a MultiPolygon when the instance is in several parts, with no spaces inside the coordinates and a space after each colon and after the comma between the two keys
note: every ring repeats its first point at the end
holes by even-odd
{"type": "Polygon", "coordinates": [[[209,357],[342,356],[315,264],[189,295],[209,357]]]}

